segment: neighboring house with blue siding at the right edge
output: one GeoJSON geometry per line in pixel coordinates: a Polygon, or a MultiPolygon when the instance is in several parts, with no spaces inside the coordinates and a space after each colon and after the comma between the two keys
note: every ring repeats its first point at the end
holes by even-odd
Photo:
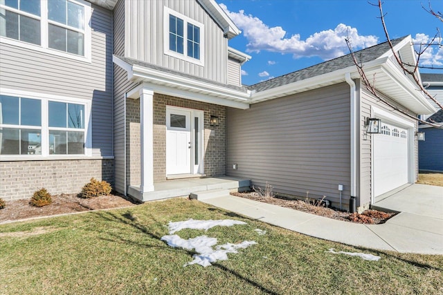
{"type": "MultiPolygon", "coordinates": [[[[443,74],[422,74],[422,83],[437,102],[443,104],[443,74]]],[[[432,104],[440,110],[435,102],[432,104]]],[[[419,131],[425,135],[425,140],[418,144],[419,170],[443,172],[443,110],[423,118],[428,122],[442,123],[442,129],[419,125],[419,131]]]]}

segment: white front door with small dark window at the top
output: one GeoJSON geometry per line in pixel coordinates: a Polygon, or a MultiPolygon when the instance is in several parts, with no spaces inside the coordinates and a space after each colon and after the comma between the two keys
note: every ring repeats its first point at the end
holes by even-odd
{"type": "Polygon", "coordinates": [[[166,110],[166,174],[191,173],[191,112],[166,110]]]}

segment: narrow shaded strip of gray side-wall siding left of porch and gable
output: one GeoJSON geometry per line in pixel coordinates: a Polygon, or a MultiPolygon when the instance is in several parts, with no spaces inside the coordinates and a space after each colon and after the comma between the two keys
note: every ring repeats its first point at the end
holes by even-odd
{"type": "MultiPolygon", "coordinates": [[[[118,1],[114,8],[114,54],[125,51],[125,1],[118,1]]],[[[120,193],[126,192],[126,101],[125,93],[134,86],[127,80],[123,68],[114,64],[114,187],[120,193]]]]}

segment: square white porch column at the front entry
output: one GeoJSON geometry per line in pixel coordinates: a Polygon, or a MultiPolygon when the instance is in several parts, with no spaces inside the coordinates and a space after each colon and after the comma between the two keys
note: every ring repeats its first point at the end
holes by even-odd
{"type": "Polygon", "coordinates": [[[154,191],[154,91],[140,90],[140,192],[154,191]]]}

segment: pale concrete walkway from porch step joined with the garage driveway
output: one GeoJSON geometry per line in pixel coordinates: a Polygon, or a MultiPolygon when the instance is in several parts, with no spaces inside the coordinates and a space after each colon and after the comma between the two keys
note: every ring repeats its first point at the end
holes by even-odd
{"type": "Polygon", "coordinates": [[[443,255],[443,187],[413,184],[377,203],[401,211],[381,225],[361,225],[235,196],[201,200],[301,234],[402,253],[443,255]]]}

